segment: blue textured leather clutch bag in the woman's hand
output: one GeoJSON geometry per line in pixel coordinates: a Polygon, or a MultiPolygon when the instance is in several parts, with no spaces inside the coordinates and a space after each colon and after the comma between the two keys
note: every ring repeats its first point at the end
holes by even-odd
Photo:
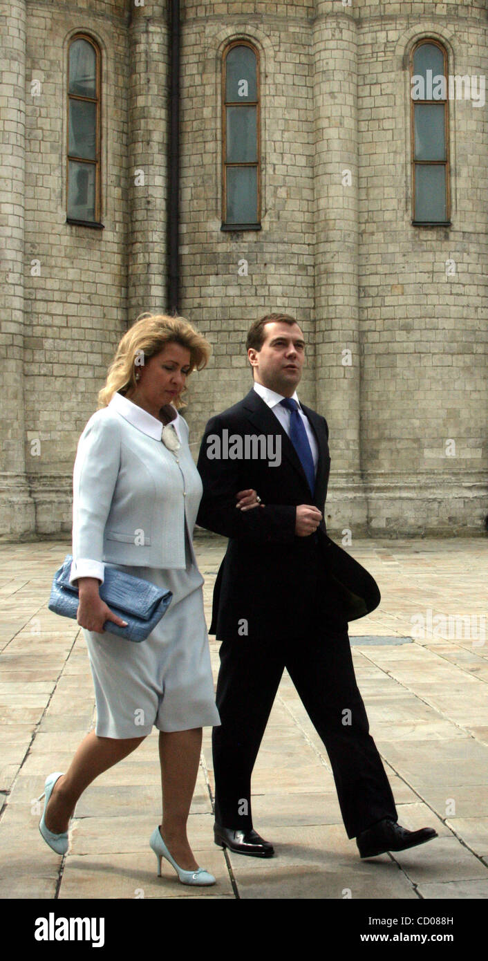
{"type": "MultiPolygon", "coordinates": [[[[49,598],[49,610],[61,617],[76,620],[79,597],[76,584],[69,583],[69,572],[73,558],[68,554],[60,570],[56,572],[49,598]]],[[[127,628],[119,628],[112,621],[106,621],[104,629],[110,634],[118,634],[128,641],[145,641],[166,613],[173,594],[165,591],[149,580],[134,578],[132,574],[106,567],[104,582],[100,584],[100,597],[109,604],[110,610],[123,621],[127,628]]]]}

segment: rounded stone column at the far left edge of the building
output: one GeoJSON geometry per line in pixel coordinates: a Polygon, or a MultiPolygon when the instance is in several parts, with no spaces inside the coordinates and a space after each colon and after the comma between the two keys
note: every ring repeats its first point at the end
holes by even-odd
{"type": "Polygon", "coordinates": [[[0,12],[0,536],[35,529],[24,447],[24,189],[26,5],[10,0],[0,12]]]}

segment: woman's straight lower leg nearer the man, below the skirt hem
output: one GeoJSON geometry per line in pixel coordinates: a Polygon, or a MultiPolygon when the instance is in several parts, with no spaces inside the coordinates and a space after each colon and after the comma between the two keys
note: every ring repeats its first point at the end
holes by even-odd
{"type": "Polygon", "coordinates": [[[194,727],[192,730],[159,731],[162,786],[160,834],[170,854],[184,871],[198,868],[186,837],[186,822],[195,790],[201,750],[201,727],[194,727]]]}

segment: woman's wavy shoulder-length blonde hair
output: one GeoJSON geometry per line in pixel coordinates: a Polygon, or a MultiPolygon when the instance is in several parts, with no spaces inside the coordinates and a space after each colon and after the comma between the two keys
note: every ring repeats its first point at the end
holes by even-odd
{"type": "MultiPolygon", "coordinates": [[[[190,370],[202,370],[210,356],[206,338],[188,323],[184,317],[170,317],[165,313],[142,313],[133,327],[124,333],[115,357],[110,364],[105,386],[98,394],[98,407],[107,407],[116,391],[124,394],[136,386],[135,369],[145,359],[164,350],[167,344],[180,344],[190,352],[190,370]],[[139,360],[139,364],[136,360],[139,360]]],[[[186,387],[183,387],[183,391],[186,387]]],[[[182,394],[183,394],[182,391],[182,394]]],[[[175,407],[183,407],[181,395],[174,401],[175,407]]]]}

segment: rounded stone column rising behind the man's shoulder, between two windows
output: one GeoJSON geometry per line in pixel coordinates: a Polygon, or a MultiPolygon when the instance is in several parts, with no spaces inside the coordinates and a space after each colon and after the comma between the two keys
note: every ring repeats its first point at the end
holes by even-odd
{"type": "Polygon", "coordinates": [[[366,520],[359,444],[357,10],[337,0],[317,2],[315,10],[317,409],[329,424],[329,529],[357,534],[366,520]]]}

